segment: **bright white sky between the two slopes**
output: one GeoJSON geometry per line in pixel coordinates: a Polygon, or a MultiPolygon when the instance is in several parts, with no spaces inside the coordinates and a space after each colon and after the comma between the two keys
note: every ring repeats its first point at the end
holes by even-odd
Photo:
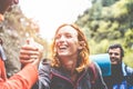
{"type": "Polygon", "coordinates": [[[28,18],[38,22],[40,36],[48,40],[60,24],[74,22],[91,7],[90,0],[20,0],[19,4],[28,18]]]}

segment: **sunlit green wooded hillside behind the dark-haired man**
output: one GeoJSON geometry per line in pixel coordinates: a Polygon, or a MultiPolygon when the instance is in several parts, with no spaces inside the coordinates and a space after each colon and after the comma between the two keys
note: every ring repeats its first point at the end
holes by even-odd
{"type": "Polygon", "coordinates": [[[133,59],[133,0],[93,0],[92,8],[85,10],[75,23],[85,27],[90,34],[92,53],[106,52],[109,44],[121,43],[127,59],[133,59]]]}

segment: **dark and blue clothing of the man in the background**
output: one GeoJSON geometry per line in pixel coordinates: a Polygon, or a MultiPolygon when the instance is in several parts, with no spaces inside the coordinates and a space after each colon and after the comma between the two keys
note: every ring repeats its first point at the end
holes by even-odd
{"type": "Polygon", "coordinates": [[[133,68],[124,62],[112,66],[112,75],[103,79],[109,89],[133,89],[133,68]]]}

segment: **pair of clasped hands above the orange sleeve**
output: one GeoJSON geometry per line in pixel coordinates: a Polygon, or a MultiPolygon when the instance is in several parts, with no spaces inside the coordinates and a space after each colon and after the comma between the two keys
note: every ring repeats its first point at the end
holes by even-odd
{"type": "Polygon", "coordinates": [[[22,46],[20,49],[20,62],[22,66],[28,63],[35,65],[38,67],[42,58],[43,47],[33,41],[33,39],[28,39],[27,44],[22,46]]]}

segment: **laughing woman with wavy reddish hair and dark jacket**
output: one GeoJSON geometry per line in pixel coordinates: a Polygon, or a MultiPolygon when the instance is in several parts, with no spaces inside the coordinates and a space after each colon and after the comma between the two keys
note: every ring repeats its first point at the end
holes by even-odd
{"type": "Polygon", "coordinates": [[[61,24],[52,44],[52,59],[39,67],[34,89],[106,89],[100,67],[89,59],[85,36],[75,24],[61,24]]]}

